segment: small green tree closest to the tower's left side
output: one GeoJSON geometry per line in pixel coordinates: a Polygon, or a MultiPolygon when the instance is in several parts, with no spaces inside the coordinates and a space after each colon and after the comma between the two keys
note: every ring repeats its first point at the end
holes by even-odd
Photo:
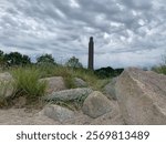
{"type": "Polygon", "coordinates": [[[65,65],[71,66],[71,68],[83,68],[82,63],[79,62],[79,59],[75,56],[72,56],[71,59],[69,59],[65,65]]]}

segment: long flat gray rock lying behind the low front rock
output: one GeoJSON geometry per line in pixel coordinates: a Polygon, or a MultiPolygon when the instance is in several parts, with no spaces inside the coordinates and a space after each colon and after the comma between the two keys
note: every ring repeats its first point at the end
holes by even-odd
{"type": "Polygon", "coordinates": [[[44,97],[46,101],[72,101],[76,99],[84,100],[86,96],[92,93],[93,90],[87,88],[82,89],[71,89],[71,90],[63,90],[60,92],[53,92],[44,97]]]}

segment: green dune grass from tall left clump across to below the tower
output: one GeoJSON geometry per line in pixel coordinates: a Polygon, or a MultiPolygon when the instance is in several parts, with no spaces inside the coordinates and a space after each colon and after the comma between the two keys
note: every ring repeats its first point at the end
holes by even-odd
{"type": "Polygon", "coordinates": [[[45,94],[46,83],[39,81],[42,78],[62,76],[68,89],[76,88],[74,78],[80,78],[87,83],[89,88],[96,91],[102,91],[102,88],[108,82],[107,79],[98,79],[93,71],[61,65],[14,68],[11,73],[14,79],[15,96],[27,96],[30,100],[45,94]]]}

